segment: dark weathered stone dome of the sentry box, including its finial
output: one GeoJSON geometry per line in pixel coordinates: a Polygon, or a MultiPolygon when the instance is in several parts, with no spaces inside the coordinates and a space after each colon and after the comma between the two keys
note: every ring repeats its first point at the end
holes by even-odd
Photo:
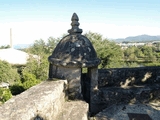
{"type": "Polygon", "coordinates": [[[72,28],[68,30],[69,35],[62,38],[48,60],[56,66],[66,67],[94,67],[100,64],[96,51],[89,39],[79,29],[78,16],[72,16],[72,28]]]}

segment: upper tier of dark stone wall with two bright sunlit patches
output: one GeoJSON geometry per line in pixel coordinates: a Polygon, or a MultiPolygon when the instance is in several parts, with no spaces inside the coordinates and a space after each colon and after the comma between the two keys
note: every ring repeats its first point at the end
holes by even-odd
{"type": "Polygon", "coordinates": [[[160,83],[160,67],[99,69],[98,75],[99,88],[160,83]]]}

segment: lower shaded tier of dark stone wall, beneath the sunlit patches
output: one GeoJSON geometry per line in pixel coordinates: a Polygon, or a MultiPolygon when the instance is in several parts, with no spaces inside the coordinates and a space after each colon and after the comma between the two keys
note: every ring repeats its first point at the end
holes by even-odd
{"type": "Polygon", "coordinates": [[[112,105],[119,104],[147,104],[149,102],[160,100],[160,85],[134,86],[128,88],[106,87],[100,88],[92,96],[90,108],[94,116],[101,110],[109,108],[112,105]]]}

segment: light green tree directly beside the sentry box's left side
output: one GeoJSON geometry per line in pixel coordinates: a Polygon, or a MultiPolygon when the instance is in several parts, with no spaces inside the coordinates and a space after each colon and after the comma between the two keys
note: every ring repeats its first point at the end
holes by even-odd
{"type": "Polygon", "coordinates": [[[31,55],[23,71],[34,74],[36,79],[46,80],[49,69],[48,57],[52,54],[59,40],[60,38],[52,37],[48,38],[47,42],[42,39],[36,40],[26,51],[32,55],[37,55],[38,59],[31,55]]]}

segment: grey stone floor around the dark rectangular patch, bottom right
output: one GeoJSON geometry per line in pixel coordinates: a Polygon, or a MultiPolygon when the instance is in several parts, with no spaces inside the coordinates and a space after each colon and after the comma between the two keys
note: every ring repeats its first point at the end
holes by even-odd
{"type": "Polygon", "coordinates": [[[155,108],[155,106],[159,105],[160,105],[159,103],[156,103],[156,105],[152,104],[113,105],[98,113],[91,120],[129,120],[127,113],[148,114],[152,120],[159,120],[160,109],[155,108]]]}

